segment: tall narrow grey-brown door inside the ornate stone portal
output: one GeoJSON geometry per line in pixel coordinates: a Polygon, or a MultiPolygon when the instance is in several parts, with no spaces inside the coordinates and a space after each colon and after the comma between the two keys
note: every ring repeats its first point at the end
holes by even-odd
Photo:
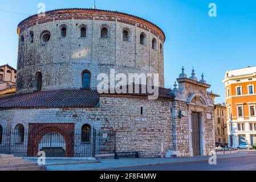
{"type": "Polygon", "coordinates": [[[201,155],[200,147],[200,118],[199,113],[192,113],[192,148],[193,156],[201,155]]]}

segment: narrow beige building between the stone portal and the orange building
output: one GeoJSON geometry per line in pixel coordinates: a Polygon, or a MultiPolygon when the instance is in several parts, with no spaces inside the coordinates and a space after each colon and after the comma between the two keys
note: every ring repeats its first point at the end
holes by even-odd
{"type": "MultiPolygon", "coordinates": [[[[214,94],[212,92],[209,94],[213,100],[213,103],[215,103],[215,97],[220,97],[219,95],[214,94]]],[[[216,143],[228,143],[226,104],[214,104],[214,108],[214,126],[216,143]]]]}

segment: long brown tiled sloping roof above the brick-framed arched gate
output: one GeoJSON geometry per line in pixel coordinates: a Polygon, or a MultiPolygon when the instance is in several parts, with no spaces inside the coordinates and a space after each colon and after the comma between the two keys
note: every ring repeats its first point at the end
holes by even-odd
{"type": "Polygon", "coordinates": [[[2,97],[0,108],[96,107],[98,102],[97,90],[53,90],[2,97]]]}

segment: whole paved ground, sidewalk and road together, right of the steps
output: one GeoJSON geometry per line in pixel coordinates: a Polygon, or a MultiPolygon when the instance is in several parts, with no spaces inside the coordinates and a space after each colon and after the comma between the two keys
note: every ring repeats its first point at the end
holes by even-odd
{"type": "MultiPolygon", "coordinates": [[[[238,154],[218,155],[217,165],[208,164],[209,156],[197,156],[192,158],[172,158],[172,159],[136,159],[121,158],[101,159],[100,163],[91,164],[70,164],[60,165],[57,160],[47,160],[47,170],[49,171],[87,171],[87,170],[256,170],[256,151],[243,150],[238,154]],[[52,164],[58,164],[52,166],[52,164]]],[[[36,162],[36,161],[35,161],[36,162]]],[[[78,163],[79,160],[64,160],[62,163],[78,163]]]]}

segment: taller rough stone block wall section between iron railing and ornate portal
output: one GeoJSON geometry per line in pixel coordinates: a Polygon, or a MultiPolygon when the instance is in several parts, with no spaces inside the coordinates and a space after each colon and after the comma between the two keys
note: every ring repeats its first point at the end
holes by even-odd
{"type": "Polygon", "coordinates": [[[101,108],[111,108],[107,123],[117,131],[117,151],[139,151],[142,156],[161,156],[172,144],[170,101],[109,97],[101,108]],[[141,114],[143,107],[143,114],[141,114]]]}

